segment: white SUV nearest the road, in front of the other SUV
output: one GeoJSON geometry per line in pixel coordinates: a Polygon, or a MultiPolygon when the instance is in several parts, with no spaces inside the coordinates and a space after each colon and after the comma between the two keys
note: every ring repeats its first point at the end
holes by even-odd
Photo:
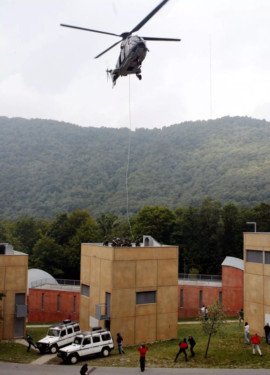
{"type": "Polygon", "coordinates": [[[108,330],[86,331],[76,335],[72,345],[60,349],[57,357],[74,365],[80,358],[91,354],[108,357],[112,349],[113,338],[108,330]]]}

